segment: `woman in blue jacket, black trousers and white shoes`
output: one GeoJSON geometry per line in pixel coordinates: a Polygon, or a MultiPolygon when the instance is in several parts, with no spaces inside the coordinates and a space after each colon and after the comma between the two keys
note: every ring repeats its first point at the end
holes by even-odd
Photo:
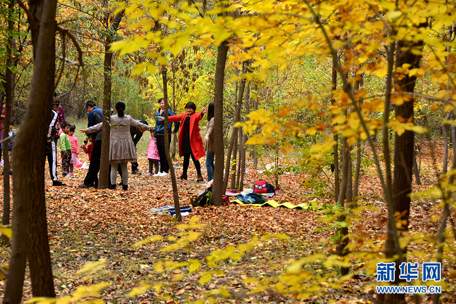
{"type": "MultiPolygon", "coordinates": [[[[165,177],[169,174],[169,165],[168,160],[166,159],[165,153],[165,122],[160,119],[160,117],[165,117],[165,99],[159,99],[159,106],[160,109],[157,112],[157,117],[155,120],[155,131],[154,131],[154,139],[157,144],[157,149],[159,151],[160,156],[160,172],[158,172],[154,177],[165,177]]],[[[171,108],[168,108],[168,116],[174,116],[173,111],[171,108]]],[[[176,133],[179,129],[180,122],[174,122],[174,133],[176,133]]],[[[168,123],[168,148],[169,144],[171,143],[171,128],[173,123],[168,123]]]]}

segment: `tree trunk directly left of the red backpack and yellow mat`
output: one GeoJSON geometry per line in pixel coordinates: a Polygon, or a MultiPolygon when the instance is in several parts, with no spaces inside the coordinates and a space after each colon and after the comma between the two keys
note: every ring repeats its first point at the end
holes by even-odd
{"type": "MultiPolygon", "coordinates": [[[[212,186],[212,196],[214,205],[223,204],[222,195],[225,194],[226,186],[223,181],[223,83],[225,78],[226,55],[228,53],[228,43],[223,41],[217,50],[217,63],[215,65],[214,83],[214,143],[215,143],[215,164],[214,164],[214,183],[212,186]]],[[[229,160],[227,160],[229,164],[229,160]]],[[[226,169],[227,171],[227,169],[226,169]]],[[[228,182],[228,181],[226,181],[228,182]]]]}

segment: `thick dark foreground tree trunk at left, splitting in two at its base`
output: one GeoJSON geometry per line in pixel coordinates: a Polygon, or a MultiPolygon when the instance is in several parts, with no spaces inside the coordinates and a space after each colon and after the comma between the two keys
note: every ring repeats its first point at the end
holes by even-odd
{"type": "Polygon", "coordinates": [[[21,302],[29,252],[33,296],[55,297],[46,222],[44,167],[54,92],[56,6],[56,0],[29,3],[34,67],[28,107],[15,139],[13,154],[13,239],[3,299],[9,304],[21,302]],[[29,176],[34,178],[26,178],[29,176]]]}

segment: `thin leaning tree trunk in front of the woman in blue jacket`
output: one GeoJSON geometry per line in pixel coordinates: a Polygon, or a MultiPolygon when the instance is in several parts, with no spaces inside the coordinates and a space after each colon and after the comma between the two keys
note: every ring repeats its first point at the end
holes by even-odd
{"type": "Polygon", "coordinates": [[[168,79],[166,77],[166,65],[162,66],[162,78],[163,78],[163,98],[165,99],[165,154],[166,160],[169,165],[169,173],[171,176],[171,184],[173,186],[173,200],[174,209],[176,210],[176,221],[182,222],[182,216],[180,215],[180,204],[179,204],[179,192],[177,191],[176,173],[174,172],[173,161],[169,155],[169,138],[168,138],[168,79]]]}

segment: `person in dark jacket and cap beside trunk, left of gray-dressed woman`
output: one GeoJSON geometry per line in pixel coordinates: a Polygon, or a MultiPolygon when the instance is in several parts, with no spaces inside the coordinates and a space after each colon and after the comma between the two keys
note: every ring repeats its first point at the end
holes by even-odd
{"type": "MultiPolygon", "coordinates": [[[[103,113],[101,109],[97,107],[94,101],[89,100],[85,104],[85,108],[89,115],[87,116],[87,127],[94,126],[100,122],[103,122],[103,113]]],[[[98,171],[100,171],[100,161],[101,161],[101,139],[103,137],[103,130],[98,130],[92,134],[87,134],[84,143],[81,145],[81,148],[84,149],[87,145],[87,142],[90,137],[93,138],[93,148],[92,148],[92,159],[90,160],[89,170],[87,171],[86,178],[84,179],[84,184],[80,185],[79,188],[98,188],[98,171]]]]}

